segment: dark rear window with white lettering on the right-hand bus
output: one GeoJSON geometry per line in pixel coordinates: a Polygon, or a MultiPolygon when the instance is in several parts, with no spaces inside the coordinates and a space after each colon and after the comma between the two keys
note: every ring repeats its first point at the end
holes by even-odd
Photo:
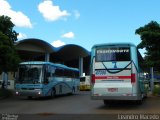
{"type": "Polygon", "coordinates": [[[96,50],[96,62],[130,61],[129,47],[99,48],[96,50]]]}

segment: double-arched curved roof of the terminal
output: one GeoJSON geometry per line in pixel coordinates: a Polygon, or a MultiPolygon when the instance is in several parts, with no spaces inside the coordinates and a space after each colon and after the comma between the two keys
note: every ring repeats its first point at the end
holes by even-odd
{"type": "MultiPolygon", "coordinates": [[[[64,61],[77,59],[80,56],[86,57],[90,54],[89,51],[79,45],[68,44],[55,48],[48,42],[35,38],[21,40],[17,42],[15,46],[18,51],[27,51],[30,54],[33,52],[51,53],[53,59],[61,59],[64,61]]],[[[33,55],[33,57],[35,57],[36,54],[33,55]]]]}

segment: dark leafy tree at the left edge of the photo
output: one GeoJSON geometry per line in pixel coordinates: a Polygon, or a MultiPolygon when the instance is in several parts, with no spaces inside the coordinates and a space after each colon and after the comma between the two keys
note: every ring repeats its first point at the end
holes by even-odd
{"type": "Polygon", "coordinates": [[[14,42],[17,35],[13,30],[14,24],[7,16],[0,16],[0,74],[15,71],[20,62],[14,42]]]}

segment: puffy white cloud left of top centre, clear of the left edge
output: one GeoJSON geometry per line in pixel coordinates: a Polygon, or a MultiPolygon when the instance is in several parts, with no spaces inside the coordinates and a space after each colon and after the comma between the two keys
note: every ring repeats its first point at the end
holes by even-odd
{"type": "Polygon", "coordinates": [[[38,5],[39,12],[47,21],[56,21],[70,15],[66,10],[61,11],[51,0],[45,0],[38,5]]]}

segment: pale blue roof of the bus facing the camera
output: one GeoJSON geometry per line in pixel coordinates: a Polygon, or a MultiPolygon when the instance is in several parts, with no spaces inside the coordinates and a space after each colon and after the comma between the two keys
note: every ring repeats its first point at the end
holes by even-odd
{"type": "Polygon", "coordinates": [[[77,68],[72,68],[72,67],[68,67],[66,65],[63,64],[56,64],[56,63],[52,63],[52,62],[43,62],[43,61],[28,61],[28,62],[22,62],[20,63],[20,65],[28,65],[28,64],[35,64],[35,65],[53,65],[55,67],[61,67],[61,68],[65,68],[65,69],[69,69],[69,70],[74,70],[74,71],[79,71],[79,69],[77,68]]]}

